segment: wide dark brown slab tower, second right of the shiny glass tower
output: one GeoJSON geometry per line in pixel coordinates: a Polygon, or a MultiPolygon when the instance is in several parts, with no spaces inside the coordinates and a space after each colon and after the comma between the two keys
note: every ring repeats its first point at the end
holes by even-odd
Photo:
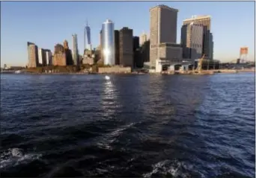
{"type": "Polygon", "coordinates": [[[120,65],[133,67],[133,35],[127,27],[119,31],[120,65]]]}

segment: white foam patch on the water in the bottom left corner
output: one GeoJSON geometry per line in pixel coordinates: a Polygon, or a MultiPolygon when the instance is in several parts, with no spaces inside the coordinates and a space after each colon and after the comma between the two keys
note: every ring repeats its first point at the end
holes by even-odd
{"type": "Polygon", "coordinates": [[[40,159],[40,154],[24,153],[20,148],[9,148],[0,154],[0,168],[10,168],[40,159]]]}

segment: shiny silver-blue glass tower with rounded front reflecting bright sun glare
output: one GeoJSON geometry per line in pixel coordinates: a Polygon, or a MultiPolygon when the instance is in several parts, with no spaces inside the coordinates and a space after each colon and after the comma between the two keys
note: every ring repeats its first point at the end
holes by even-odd
{"type": "Polygon", "coordinates": [[[103,23],[103,59],[105,65],[115,65],[115,26],[107,19],[103,23]]]}

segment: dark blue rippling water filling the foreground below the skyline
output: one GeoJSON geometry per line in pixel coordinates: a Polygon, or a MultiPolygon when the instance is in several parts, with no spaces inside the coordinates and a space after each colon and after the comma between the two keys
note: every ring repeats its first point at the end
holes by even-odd
{"type": "Polygon", "coordinates": [[[255,177],[255,74],[1,74],[1,177],[255,177]]]}

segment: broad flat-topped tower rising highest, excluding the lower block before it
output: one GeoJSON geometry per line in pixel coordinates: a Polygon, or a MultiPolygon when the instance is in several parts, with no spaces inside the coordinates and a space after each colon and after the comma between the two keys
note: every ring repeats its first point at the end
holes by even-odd
{"type": "Polygon", "coordinates": [[[166,5],[150,9],[150,63],[155,64],[159,58],[161,43],[176,43],[177,13],[177,9],[166,5]]]}

